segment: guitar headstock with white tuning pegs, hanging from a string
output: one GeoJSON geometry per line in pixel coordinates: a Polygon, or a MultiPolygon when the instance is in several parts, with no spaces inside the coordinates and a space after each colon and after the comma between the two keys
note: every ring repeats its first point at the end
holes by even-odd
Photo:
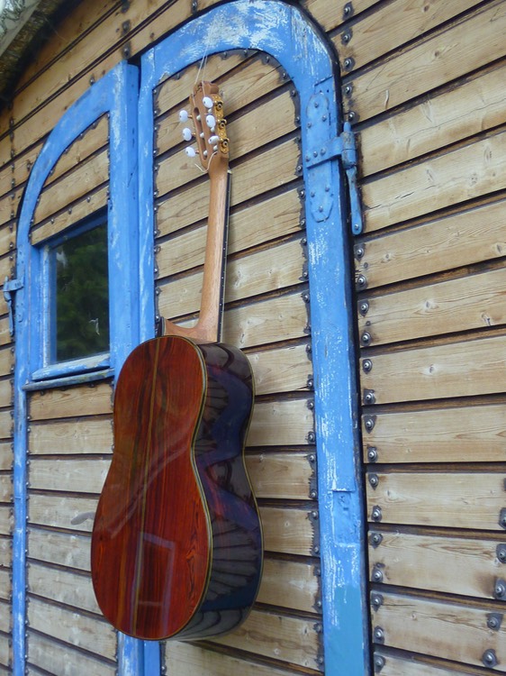
{"type": "Polygon", "coordinates": [[[223,116],[223,101],[218,85],[213,82],[199,82],[190,95],[190,114],[185,110],[179,113],[179,121],[188,119],[194,123],[194,132],[188,127],[183,130],[183,139],[195,139],[197,149],[186,148],[186,155],[194,157],[198,154],[203,169],[208,172],[215,167],[228,169],[229,139],[227,138],[227,121],[223,116]]]}

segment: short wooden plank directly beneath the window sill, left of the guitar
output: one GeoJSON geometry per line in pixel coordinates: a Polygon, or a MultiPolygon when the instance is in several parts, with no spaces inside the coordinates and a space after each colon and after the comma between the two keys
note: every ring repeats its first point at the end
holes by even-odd
{"type": "Polygon", "coordinates": [[[30,397],[32,420],[76,416],[96,416],[112,412],[112,388],[109,383],[51,389],[30,397]]]}

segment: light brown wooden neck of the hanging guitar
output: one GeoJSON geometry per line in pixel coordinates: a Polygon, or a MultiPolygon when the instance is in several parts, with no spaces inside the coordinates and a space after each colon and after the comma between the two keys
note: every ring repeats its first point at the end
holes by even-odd
{"type": "Polygon", "coordinates": [[[230,170],[225,162],[210,170],[210,204],[203,262],[201,309],[191,328],[163,319],[162,333],[191,338],[195,343],[217,343],[225,290],[227,231],[230,206],[230,170]]]}

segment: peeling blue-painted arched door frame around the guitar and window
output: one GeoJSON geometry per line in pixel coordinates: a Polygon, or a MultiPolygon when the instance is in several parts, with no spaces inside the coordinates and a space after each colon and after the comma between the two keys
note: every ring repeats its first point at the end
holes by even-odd
{"type": "MultiPolygon", "coordinates": [[[[342,189],[344,172],[331,152],[327,160],[315,163],[311,159],[315,152],[335,147],[342,128],[334,58],[321,32],[298,7],[277,0],[234,0],[197,16],[143,56],[138,108],[137,72],[133,67],[122,64],[91,87],[51,133],[32,169],[20,218],[17,262],[17,277],[23,280],[24,287],[16,298],[19,325],[14,379],[15,676],[24,673],[25,662],[27,430],[23,385],[30,379],[32,350],[40,349],[33,348],[28,337],[29,294],[32,277],[37,273],[28,233],[36,198],[59,154],[98,115],[108,112],[111,115],[109,219],[114,233],[111,242],[115,242],[110,260],[118,265],[118,260],[125,256],[132,270],[129,312],[113,318],[122,331],[122,337],[116,333],[117,342],[112,344],[111,366],[116,370],[135,344],[154,333],[153,90],[161,80],[200,61],[204,55],[232,49],[261,50],[272,55],[292,78],[300,96],[303,179],[308,196],[306,229],[312,294],[325,672],[329,676],[369,673],[365,525],[359,480],[352,273],[342,189]],[[315,113],[322,109],[325,114],[315,113]],[[119,224],[121,234],[128,231],[128,236],[117,236],[119,224]]],[[[111,294],[121,292],[120,288],[111,289],[111,294]]],[[[145,644],[120,635],[119,671],[121,676],[158,674],[158,644],[145,644]]]]}

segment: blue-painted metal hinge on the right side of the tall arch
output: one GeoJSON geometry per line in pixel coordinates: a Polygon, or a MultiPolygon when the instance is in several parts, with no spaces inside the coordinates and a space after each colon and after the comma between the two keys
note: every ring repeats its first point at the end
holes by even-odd
{"type": "Polygon", "coordinates": [[[351,232],[355,235],[362,232],[362,211],[358,196],[357,184],[357,143],[351,124],[345,122],[343,131],[333,137],[325,138],[330,120],[329,98],[324,92],[310,98],[307,107],[307,150],[304,153],[304,166],[313,169],[314,175],[309,187],[309,198],[312,215],[316,221],[326,220],[330,215],[333,203],[333,187],[330,182],[330,169],[325,163],[340,158],[348,179],[348,196],[351,211],[351,232]]]}

